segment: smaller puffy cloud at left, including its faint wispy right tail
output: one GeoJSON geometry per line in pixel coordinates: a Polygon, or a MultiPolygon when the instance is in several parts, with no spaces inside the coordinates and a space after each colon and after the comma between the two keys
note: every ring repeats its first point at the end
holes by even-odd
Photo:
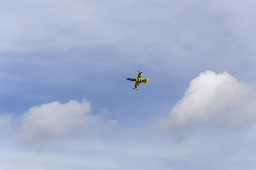
{"type": "MultiPolygon", "coordinates": [[[[84,135],[106,132],[116,125],[106,113],[90,114],[90,102],[70,100],[64,104],[51,102],[34,106],[22,116],[19,137],[22,141],[44,142],[47,139],[67,137],[70,132],[84,135]]],[[[76,135],[75,135],[76,136],[76,135]]]]}

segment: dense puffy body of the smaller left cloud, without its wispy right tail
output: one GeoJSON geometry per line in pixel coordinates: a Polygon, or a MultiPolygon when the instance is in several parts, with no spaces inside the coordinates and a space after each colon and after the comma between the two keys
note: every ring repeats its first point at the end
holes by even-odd
{"type": "Polygon", "coordinates": [[[34,106],[22,119],[20,127],[23,139],[49,139],[66,136],[73,127],[92,122],[96,116],[90,113],[90,103],[70,100],[67,103],[51,102],[34,106]]]}

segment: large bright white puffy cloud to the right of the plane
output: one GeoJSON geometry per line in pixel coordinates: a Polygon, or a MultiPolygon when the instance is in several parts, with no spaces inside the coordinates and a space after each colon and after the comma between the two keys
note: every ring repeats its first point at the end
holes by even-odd
{"type": "Polygon", "coordinates": [[[209,119],[230,127],[243,127],[256,119],[253,87],[227,72],[205,71],[190,82],[185,95],[161,125],[171,130],[188,130],[209,119]]]}

